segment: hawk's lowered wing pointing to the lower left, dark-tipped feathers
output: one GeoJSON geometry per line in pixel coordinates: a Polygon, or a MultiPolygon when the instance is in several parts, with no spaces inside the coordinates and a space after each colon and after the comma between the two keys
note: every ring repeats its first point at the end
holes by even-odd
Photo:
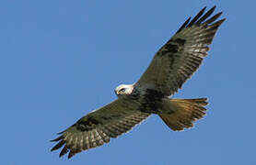
{"type": "Polygon", "coordinates": [[[108,143],[111,137],[118,137],[133,126],[142,122],[150,114],[137,110],[138,104],[117,99],[84,117],[70,126],[60,137],[53,139],[57,142],[52,150],[64,146],[60,157],[69,152],[68,158],[89,148],[96,148],[108,143]]]}

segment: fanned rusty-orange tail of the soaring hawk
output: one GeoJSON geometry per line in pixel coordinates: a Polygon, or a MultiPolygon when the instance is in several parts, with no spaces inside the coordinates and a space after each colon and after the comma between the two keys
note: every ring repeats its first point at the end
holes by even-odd
{"type": "Polygon", "coordinates": [[[205,115],[204,106],[208,104],[206,98],[197,99],[170,99],[171,114],[159,114],[162,120],[172,130],[183,130],[192,127],[192,122],[205,115]]]}

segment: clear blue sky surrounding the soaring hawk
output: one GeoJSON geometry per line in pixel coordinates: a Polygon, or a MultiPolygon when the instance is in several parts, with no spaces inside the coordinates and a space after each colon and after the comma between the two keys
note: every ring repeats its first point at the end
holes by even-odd
{"type": "Polygon", "coordinates": [[[256,164],[255,1],[1,0],[3,165],[256,164]],[[154,53],[204,6],[227,21],[174,97],[208,97],[207,115],[174,132],[157,115],[100,148],[59,159],[57,132],[136,82],[154,53]]]}

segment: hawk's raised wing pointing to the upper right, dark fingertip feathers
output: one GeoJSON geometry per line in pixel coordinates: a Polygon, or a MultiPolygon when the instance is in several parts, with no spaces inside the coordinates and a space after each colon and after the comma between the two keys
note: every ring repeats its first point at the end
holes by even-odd
{"type": "Polygon", "coordinates": [[[171,95],[181,88],[183,82],[198,69],[209,50],[217,28],[225,21],[215,20],[222,12],[210,17],[215,6],[204,14],[205,7],[190,21],[180,27],[176,34],[157,51],[154,59],[136,82],[165,95],[171,95]],[[210,18],[208,18],[210,17],[210,18]]]}

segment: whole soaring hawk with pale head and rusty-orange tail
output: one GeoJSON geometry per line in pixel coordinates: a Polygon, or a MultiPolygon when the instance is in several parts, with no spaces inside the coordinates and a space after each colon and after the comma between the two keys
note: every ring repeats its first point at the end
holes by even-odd
{"type": "Polygon", "coordinates": [[[174,131],[191,128],[205,115],[207,98],[175,99],[171,96],[197,71],[217,29],[226,20],[217,20],[222,12],[211,17],[215,7],[206,13],[204,7],[195,17],[189,17],[157,50],[137,82],[119,85],[114,90],[116,100],[58,133],[59,137],[51,140],[55,142],[52,150],[62,148],[59,157],[68,153],[70,159],[83,150],[109,143],[111,138],[128,132],[150,115],[159,115],[174,131]]]}

